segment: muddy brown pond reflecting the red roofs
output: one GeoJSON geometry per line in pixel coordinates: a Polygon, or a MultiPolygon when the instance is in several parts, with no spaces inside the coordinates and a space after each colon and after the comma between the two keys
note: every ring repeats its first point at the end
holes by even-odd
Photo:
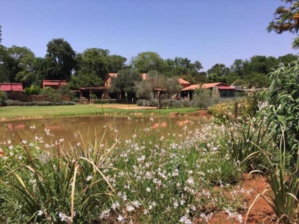
{"type": "Polygon", "coordinates": [[[0,142],[11,139],[17,142],[20,138],[32,141],[35,136],[42,137],[44,142],[64,139],[66,142],[80,142],[81,136],[86,140],[101,139],[105,130],[105,139],[126,139],[133,134],[160,131],[161,136],[167,137],[180,133],[183,129],[194,131],[205,123],[205,119],[188,117],[62,117],[47,119],[28,119],[0,122],[0,142]],[[80,136],[81,135],[81,136],[80,136]],[[20,138],[19,138],[19,137],[20,138]]]}

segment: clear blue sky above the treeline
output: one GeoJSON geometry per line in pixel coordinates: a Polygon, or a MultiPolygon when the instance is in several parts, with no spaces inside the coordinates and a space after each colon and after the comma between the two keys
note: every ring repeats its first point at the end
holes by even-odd
{"type": "Polygon", "coordinates": [[[30,48],[44,56],[46,44],[64,38],[76,52],[109,49],[128,60],[143,51],[162,58],[215,63],[253,55],[281,56],[291,49],[291,33],[267,33],[280,0],[2,0],[2,44],[30,48]]]}

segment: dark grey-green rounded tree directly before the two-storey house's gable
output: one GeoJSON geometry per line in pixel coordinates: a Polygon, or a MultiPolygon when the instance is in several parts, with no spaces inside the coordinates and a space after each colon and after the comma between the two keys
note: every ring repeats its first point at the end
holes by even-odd
{"type": "Polygon", "coordinates": [[[119,98],[123,93],[129,96],[135,96],[135,83],[141,81],[141,75],[133,69],[122,69],[118,72],[116,78],[111,80],[111,91],[119,94],[119,98]]]}

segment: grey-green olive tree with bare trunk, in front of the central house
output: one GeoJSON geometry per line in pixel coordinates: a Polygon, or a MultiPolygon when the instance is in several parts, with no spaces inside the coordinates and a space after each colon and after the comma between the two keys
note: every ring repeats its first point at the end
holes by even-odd
{"type": "Polygon", "coordinates": [[[135,85],[138,98],[148,99],[152,94],[158,99],[158,108],[161,105],[161,95],[164,93],[168,98],[181,90],[178,77],[165,77],[157,71],[149,71],[147,79],[137,82],[135,85]]]}

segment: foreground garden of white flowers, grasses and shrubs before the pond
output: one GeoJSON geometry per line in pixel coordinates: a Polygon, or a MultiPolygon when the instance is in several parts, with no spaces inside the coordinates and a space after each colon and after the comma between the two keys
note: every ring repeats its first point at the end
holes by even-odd
{"type": "Polygon", "coordinates": [[[158,116],[126,138],[117,119],[92,139],[12,132],[0,146],[1,222],[297,223],[298,70],[295,61],[270,73],[269,90],[239,102],[237,118],[221,103],[177,133],[152,128],[158,116]],[[243,185],[261,179],[259,191],[243,185]]]}

